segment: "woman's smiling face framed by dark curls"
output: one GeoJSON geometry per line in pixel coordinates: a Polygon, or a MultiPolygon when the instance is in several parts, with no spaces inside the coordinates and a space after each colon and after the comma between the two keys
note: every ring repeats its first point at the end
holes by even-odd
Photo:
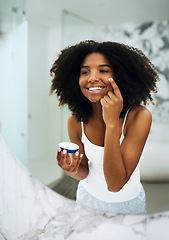
{"type": "Polygon", "coordinates": [[[109,78],[113,71],[106,57],[101,53],[87,55],[82,63],[79,86],[83,95],[91,102],[99,102],[108,91],[112,91],[109,78]]]}

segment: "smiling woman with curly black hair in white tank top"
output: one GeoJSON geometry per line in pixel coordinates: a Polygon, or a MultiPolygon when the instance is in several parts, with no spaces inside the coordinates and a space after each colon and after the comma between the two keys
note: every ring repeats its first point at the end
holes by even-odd
{"type": "Polygon", "coordinates": [[[51,69],[51,94],[67,104],[70,141],[79,151],[57,151],[58,165],[80,180],[79,204],[105,212],[145,213],[140,156],[152,116],[158,75],[138,49],[115,42],[84,41],[64,49],[51,69]]]}

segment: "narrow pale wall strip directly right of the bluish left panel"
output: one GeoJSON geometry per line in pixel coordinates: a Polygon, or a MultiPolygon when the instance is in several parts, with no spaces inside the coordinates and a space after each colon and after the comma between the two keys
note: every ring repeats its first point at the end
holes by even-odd
{"type": "Polygon", "coordinates": [[[48,151],[47,29],[28,22],[28,159],[48,151]]]}

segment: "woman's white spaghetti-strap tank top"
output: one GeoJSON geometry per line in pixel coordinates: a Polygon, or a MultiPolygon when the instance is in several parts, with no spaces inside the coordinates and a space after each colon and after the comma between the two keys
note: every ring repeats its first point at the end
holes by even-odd
{"type": "MultiPolygon", "coordinates": [[[[123,130],[128,112],[125,115],[120,144],[124,139],[123,130]]],[[[89,141],[84,133],[83,122],[81,122],[82,138],[86,157],[89,160],[89,174],[81,180],[82,186],[95,198],[106,202],[124,202],[136,198],[142,188],[140,183],[140,160],[134,169],[130,179],[119,192],[110,192],[107,189],[106,180],[103,172],[104,147],[95,145],[89,141]]]]}

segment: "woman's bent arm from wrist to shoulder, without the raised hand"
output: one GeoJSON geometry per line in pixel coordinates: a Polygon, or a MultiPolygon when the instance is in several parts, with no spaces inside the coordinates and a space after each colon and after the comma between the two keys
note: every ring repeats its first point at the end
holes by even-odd
{"type": "Polygon", "coordinates": [[[130,113],[126,136],[120,146],[118,124],[106,128],[104,174],[109,191],[119,191],[140,159],[151,127],[151,113],[142,107],[130,113]],[[131,116],[132,115],[132,116],[131,116]]]}

